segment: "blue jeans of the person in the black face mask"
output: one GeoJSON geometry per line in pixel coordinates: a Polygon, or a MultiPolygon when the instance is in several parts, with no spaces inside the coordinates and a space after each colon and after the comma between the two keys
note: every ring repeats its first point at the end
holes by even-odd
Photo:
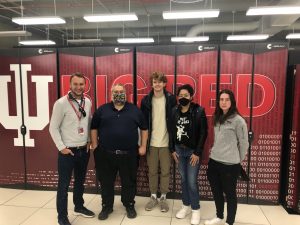
{"type": "Polygon", "coordinates": [[[194,152],[191,148],[175,145],[175,150],[179,156],[178,170],[181,176],[183,205],[191,205],[193,210],[197,210],[200,208],[199,187],[197,182],[200,162],[195,166],[191,165],[190,157],[194,152]]]}

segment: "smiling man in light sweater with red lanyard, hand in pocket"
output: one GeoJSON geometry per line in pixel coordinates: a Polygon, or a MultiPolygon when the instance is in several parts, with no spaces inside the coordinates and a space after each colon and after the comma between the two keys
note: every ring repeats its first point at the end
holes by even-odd
{"type": "Polygon", "coordinates": [[[95,214],[83,206],[84,181],[89,152],[89,125],[91,101],[84,96],[85,77],[74,73],[70,78],[70,92],[58,99],[54,106],[49,131],[59,150],[58,186],[56,208],[59,225],[70,225],[68,220],[68,189],[74,170],[73,202],[74,214],[94,217],[95,214]]]}

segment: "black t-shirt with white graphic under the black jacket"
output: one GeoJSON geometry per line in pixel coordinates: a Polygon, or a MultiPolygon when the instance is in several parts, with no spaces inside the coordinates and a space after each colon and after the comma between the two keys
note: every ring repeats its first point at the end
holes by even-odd
{"type": "Polygon", "coordinates": [[[176,144],[189,145],[191,138],[190,125],[189,111],[180,113],[180,117],[176,122],[176,144]]]}

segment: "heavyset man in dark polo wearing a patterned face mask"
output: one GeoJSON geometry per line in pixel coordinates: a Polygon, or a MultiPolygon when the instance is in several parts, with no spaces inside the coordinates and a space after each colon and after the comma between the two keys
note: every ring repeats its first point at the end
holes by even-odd
{"type": "Polygon", "coordinates": [[[91,149],[94,151],[97,178],[101,185],[102,210],[99,220],[113,211],[114,182],[121,178],[121,201],[127,217],[137,216],[134,208],[137,177],[137,154],[146,153],[148,127],[143,113],[126,101],[124,85],[111,89],[112,101],[100,106],[91,123],[91,149]],[[138,146],[138,128],[140,146],[138,146]]]}

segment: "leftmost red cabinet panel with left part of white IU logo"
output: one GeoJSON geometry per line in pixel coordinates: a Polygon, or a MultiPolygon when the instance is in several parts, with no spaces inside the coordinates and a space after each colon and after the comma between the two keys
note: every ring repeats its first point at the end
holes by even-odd
{"type": "Polygon", "coordinates": [[[24,148],[18,49],[0,50],[0,185],[24,187],[24,148]]]}

